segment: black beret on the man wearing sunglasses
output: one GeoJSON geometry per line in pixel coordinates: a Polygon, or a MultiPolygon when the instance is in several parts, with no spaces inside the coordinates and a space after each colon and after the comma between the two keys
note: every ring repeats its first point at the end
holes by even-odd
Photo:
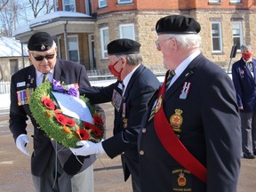
{"type": "Polygon", "coordinates": [[[28,50],[45,52],[52,48],[53,38],[46,32],[38,32],[28,40],[28,50]]]}

